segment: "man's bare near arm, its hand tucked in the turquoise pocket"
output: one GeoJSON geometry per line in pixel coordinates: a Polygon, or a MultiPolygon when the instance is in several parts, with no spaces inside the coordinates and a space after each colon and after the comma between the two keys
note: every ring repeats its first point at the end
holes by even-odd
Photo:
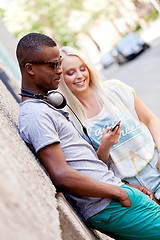
{"type": "Polygon", "coordinates": [[[59,143],[42,148],[38,154],[55,186],[61,190],[84,197],[112,198],[131,206],[123,188],[98,182],[68,166],[59,143]]]}

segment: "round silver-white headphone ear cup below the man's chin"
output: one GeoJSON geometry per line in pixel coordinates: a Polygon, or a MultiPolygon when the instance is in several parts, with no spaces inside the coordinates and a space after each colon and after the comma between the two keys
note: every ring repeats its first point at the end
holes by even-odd
{"type": "Polygon", "coordinates": [[[47,101],[57,109],[64,108],[67,105],[65,97],[57,91],[52,91],[48,93],[47,101]]]}

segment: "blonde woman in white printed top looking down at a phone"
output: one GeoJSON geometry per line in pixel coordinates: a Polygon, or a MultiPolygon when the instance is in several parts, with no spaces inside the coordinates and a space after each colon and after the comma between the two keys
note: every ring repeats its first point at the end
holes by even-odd
{"type": "MultiPolygon", "coordinates": [[[[95,149],[102,135],[111,141],[110,127],[121,120],[119,142],[102,148],[107,164],[116,176],[130,184],[144,185],[160,199],[160,121],[135,95],[134,89],[119,80],[101,82],[91,62],[76,49],[61,48],[63,79],[61,92],[68,105],[88,129],[95,149]],[[107,130],[106,130],[107,129],[107,130]],[[109,155],[110,152],[110,155],[109,155]]],[[[70,109],[67,109],[70,111],[70,109]]],[[[76,118],[70,112],[73,121],[76,118]]],[[[113,136],[112,136],[113,137],[113,136]]]]}

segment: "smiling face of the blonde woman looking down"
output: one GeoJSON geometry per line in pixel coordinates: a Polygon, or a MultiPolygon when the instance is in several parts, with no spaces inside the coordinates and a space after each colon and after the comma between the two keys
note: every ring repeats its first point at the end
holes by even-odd
{"type": "Polygon", "coordinates": [[[89,88],[89,71],[77,56],[64,56],[62,60],[63,77],[67,87],[75,95],[89,88]]]}

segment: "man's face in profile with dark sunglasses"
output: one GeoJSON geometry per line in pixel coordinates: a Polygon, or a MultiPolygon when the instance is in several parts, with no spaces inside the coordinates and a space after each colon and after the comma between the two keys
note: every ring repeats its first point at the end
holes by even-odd
{"type": "Polygon", "coordinates": [[[44,47],[41,54],[37,55],[37,61],[45,62],[45,64],[33,64],[35,72],[34,85],[37,90],[47,92],[58,88],[62,74],[61,64],[57,62],[57,69],[55,67],[55,61],[58,60],[60,60],[60,52],[56,46],[44,47]]]}

